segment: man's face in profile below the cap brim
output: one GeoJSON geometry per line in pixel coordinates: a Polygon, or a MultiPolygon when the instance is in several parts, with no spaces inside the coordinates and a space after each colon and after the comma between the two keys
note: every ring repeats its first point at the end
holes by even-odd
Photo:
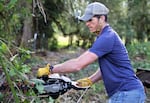
{"type": "Polygon", "coordinates": [[[102,29],[101,21],[97,17],[93,17],[92,19],[87,21],[86,26],[89,28],[90,32],[92,32],[92,33],[101,31],[101,29],[102,29]]]}

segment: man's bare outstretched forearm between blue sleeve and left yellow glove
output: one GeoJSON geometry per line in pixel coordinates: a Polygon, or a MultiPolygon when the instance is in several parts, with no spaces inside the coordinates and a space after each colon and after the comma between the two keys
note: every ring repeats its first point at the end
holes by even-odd
{"type": "MultiPolygon", "coordinates": [[[[77,72],[87,65],[93,63],[98,56],[90,51],[86,51],[75,59],[68,60],[64,63],[54,65],[53,73],[71,73],[77,72]]],[[[94,77],[93,77],[94,78],[94,77]]]]}

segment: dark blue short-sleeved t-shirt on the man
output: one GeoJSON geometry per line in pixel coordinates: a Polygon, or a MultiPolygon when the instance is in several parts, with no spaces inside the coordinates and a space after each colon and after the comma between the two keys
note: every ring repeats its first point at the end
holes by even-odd
{"type": "Polygon", "coordinates": [[[109,97],[117,91],[142,88],[142,83],[132,69],[124,44],[109,25],[104,27],[89,51],[98,56],[102,78],[109,97]]]}

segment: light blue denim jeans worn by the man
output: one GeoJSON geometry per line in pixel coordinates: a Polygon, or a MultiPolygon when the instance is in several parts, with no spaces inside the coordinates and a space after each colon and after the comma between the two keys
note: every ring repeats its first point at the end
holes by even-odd
{"type": "Polygon", "coordinates": [[[131,91],[119,91],[111,96],[108,103],[145,103],[146,94],[144,89],[131,91]]]}

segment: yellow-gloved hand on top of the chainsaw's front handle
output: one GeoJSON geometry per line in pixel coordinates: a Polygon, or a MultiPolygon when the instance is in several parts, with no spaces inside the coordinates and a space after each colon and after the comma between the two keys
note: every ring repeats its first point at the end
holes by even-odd
{"type": "Polygon", "coordinates": [[[50,72],[50,64],[47,64],[46,67],[39,68],[37,71],[37,77],[42,77],[44,75],[49,75],[50,72]]]}

